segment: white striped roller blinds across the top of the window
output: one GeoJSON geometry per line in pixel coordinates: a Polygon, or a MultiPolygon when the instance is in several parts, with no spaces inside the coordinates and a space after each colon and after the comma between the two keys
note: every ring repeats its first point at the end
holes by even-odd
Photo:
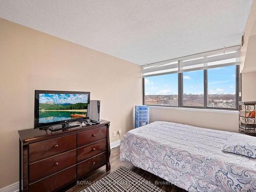
{"type": "Polygon", "coordinates": [[[142,66],[142,76],[148,77],[231,65],[240,65],[240,46],[144,65],[142,66]]]}

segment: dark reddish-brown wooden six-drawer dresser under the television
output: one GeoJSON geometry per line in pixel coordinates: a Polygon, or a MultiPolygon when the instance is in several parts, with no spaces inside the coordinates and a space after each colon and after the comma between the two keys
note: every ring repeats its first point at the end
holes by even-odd
{"type": "Polygon", "coordinates": [[[103,165],[110,170],[109,126],[18,131],[20,191],[56,191],[103,165]]]}

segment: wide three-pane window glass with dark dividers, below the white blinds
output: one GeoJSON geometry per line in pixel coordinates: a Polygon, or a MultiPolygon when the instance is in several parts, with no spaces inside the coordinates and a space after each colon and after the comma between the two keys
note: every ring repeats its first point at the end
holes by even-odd
{"type": "Polygon", "coordinates": [[[237,109],[239,66],[144,78],[144,104],[237,109]]]}

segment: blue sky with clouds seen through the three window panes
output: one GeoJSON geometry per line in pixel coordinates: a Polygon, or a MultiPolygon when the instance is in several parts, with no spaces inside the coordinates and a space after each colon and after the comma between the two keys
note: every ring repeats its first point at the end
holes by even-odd
{"type": "MultiPolygon", "coordinates": [[[[203,94],[203,70],[183,73],[183,93],[203,94]]],[[[208,69],[208,94],[234,94],[236,66],[208,69]]],[[[177,95],[178,74],[145,78],[145,95],[177,95]]]]}

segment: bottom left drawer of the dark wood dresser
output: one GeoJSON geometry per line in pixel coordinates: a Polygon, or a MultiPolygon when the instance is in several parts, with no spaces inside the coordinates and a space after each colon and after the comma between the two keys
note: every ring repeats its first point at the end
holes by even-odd
{"type": "Polygon", "coordinates": [[[29,192],[53,191],[76,179],[76,165],[29,185],[29,192]]]}

